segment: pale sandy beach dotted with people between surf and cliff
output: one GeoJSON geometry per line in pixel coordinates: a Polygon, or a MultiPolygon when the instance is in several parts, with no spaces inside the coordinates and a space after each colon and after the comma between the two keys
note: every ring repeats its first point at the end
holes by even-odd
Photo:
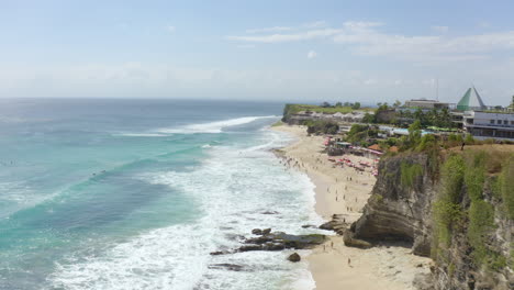
{"type": "MultiPolygon", "coordinates": [[[[308,136],[304,126],[275,126],[272,130],[293,134],[298,141],[281,149],[288,166],[302,170],[315,185],[315,211],[323,219],[343,214],[354,222],[370,196],[376,178],[368,169],[359,172],[351,167],[335,167],[323,150],[322,136],[308,136]]],[[[345,156],[353,163],[373,159],[345,156]]],[[[329,241],[306,257],[316,289],[403,290],[414,289],[412,281],[418,272],[428,272],[431,259],[414,256],[400,246],[377,246],[370,249],[346,247],[343,237],[329,241]]]]}

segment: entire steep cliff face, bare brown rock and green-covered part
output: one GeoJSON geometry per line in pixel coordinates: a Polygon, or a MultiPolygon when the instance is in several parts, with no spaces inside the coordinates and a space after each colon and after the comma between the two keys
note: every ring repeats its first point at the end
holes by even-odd
{"type": "MultiPolygon", "coordinates": [[[[351,225],[354,237],[406,241],[414,254],[431,256],[435,267],[431,277],[424,277],[423,289],[514,289],[514,221],[505,213],[509,197],[490,190],[495,178],[484,177],[480,183],[480,175],[469,174],[473,166],[463,167],[460,176],[450,166],[439,170],[444,166],[442,159],[422,153],[381,160],[372,196],[351,225]],[[457,181],[452,186],[448,180],[457,181]],[[444,203],[447,188],[454,192],[448,201],[451,211],[444,203]],[[445,219],[449,219],[446,224],[445,219]]],[[[504,175],[514,179],[511,171],[504,175]]],[[[510,185],[503,182],[504,194],[512,197],[510,185]]]]}

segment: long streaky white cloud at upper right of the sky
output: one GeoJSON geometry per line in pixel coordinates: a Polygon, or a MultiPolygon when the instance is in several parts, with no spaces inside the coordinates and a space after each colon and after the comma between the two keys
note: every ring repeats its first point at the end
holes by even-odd
{"type": "MultiPolygon", "coordinates": [[[[314,22],[315,23],[315,22],[314,22]]],[[[321,25],[313,24],[313,26],[321,25]]],[[[286,43],[333,40],[350,52],[368,56],[390,56],[416,63],[468,62],[490,58],[493,51],[514,48],[514,31],[479,35],[448,36],[448,26],[433,26],[439,35],[384,33],[381,22],[347,21],[342,27],[295,29],[294,33],[225,36],[247,43],[286,43]]]]}

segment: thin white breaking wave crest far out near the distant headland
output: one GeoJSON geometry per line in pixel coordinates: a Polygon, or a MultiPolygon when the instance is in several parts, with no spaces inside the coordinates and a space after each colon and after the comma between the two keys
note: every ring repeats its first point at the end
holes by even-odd
{"type": "Polygon", "coordinates": [[[168,129],[158,129],[156,132],[165,133],[165,134],[194,134],[194,133],[221,133],[223,129],[243,125],[247,123],[252,123],[259,119],[272,119],[278,118],[276,115],[265,115],[265,116],[244,116],[244,118],[236,118],[223,121],[215,121],[210,123],[202,123],[202,124],[190,124],[185,125],[182,127],[168,127],[168,129]]]}

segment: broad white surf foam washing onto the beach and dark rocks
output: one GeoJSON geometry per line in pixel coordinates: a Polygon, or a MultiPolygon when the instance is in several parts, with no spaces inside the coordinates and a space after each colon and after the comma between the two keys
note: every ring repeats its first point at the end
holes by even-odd
{"type": "MultiPolygon", "coordinates": [[[[272,144],[254,147],[216,146],[192,172],[147,174],[141,179],[166,185],[192,198],[202,217],[152,231],[114,246],[101,256],[59,265],[51,277],[63,289],[312,289],[304,261],[286,260],[288,252],[246,252],[211,256],[210,252],[239,246],[237,236],[255,227],[288,233],[319,223],[313,185],[305,175],[286,171],[262,148],[286,142],[265,133],[272,144]],[[264,214],[276,211],[276,214],[264,214]],[[213,269],[236,264],[243,271],[213,269]]],[[[301,255],[306,252],[301,252],[301,255]]]]}

